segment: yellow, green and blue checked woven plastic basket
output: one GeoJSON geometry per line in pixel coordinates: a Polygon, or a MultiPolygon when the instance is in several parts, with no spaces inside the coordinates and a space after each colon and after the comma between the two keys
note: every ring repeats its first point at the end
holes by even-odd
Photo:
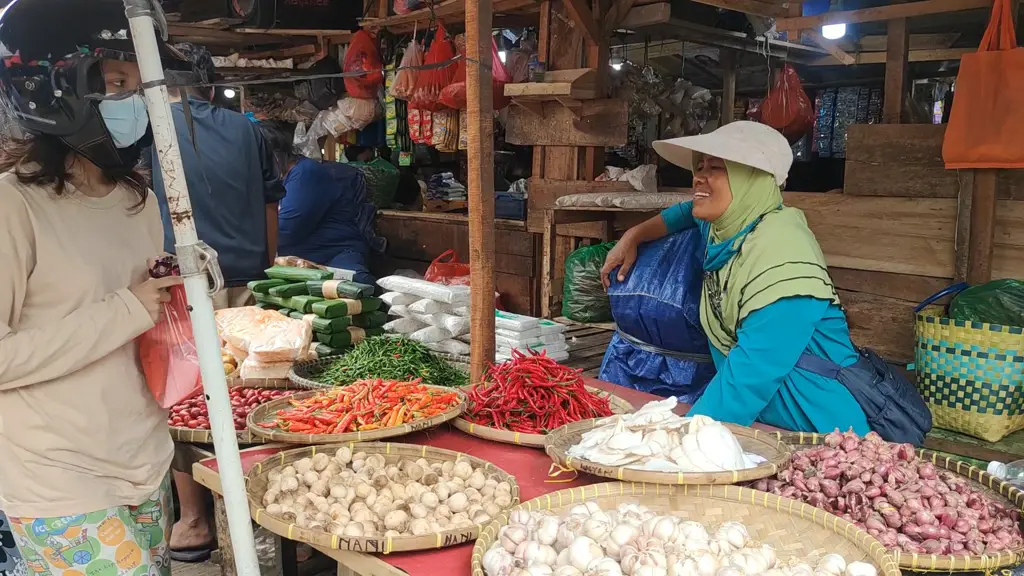
{"type": "Polygon", "coordinates": [[[1024,328],[952,320],[933,299],[914,322],[916,385],[933,424],[988,442],[1024,428],[1024,328]]]}

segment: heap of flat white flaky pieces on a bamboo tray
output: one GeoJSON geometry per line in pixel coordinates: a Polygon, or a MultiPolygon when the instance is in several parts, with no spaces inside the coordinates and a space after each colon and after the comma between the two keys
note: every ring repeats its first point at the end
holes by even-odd
{"type": "Polygon", "coordinates": [[[738,470],[764,461],[743,453],[729,428],[708,416],[674,414],[676,404],[672,397],[611,416],[566,453],[605,466],[667,472],[738,470]]]}

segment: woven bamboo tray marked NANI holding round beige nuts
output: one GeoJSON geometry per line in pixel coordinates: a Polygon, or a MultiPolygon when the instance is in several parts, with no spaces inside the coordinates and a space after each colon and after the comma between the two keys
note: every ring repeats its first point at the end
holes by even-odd
{"type": "Polygon", "coordinates": [[[349,447],[353,453],[366,452],[370,454],[381,454],[390,464],[402,458],[425,458],[428,462],[444,462],[466,460],[473,467],[483,467],[486,474],[494,474],[504,482],[512,486],[512,504],[519,502],[519,485],[516,484],[515,477],[496,466],[495,464],[452,450],[434,448],[431,446],[417,446],[413,444],[391,444],[391,443],[342,443],[328,446],[308,446],[293,450],[279,452],[273,456],[257,463],[249,474],[246,475],[246,486],[249,496],[249,509],[257,524],[266,528],[270,532],[284,536],[289,540],[307,542],[317,546],[329,547],[336,550],[353,550],[369,553],[390,553],[408,550],[427,550],[432,548],[443,548],[455,546],[476,539],[481,527],[460,528],[458,530],[446,530],[434,534],[423,536],[398,536],[398,537],[352,537],[335,536],[319,530],[309,530],[299,528],[294,524],[270,516],[263,507],[263,494],[269,484],[267,475],[270,470],[295,462],[307,456],[313,456],[319,452],[334,454],[342,446],[349,447]]]}

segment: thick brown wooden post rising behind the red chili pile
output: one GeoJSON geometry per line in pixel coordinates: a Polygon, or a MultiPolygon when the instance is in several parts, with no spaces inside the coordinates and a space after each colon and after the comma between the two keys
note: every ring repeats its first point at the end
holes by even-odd
{"type": "Polygon", "coordinates": [[[469,266],[471,382],[495,361],[495,118],[490,88],[490,0],[466,2],[469,106],[469,266]]]}

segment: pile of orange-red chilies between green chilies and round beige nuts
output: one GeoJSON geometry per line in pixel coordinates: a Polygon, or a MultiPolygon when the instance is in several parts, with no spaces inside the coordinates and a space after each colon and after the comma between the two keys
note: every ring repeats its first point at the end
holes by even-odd
{"type": "Polygon", "coordinates": [[[260,423],[265,428],[300,434],[344,434],[398,426],[436,416],[459,404],[459,395],[420,383],[359,380],[302,400],[260,423]]]}

